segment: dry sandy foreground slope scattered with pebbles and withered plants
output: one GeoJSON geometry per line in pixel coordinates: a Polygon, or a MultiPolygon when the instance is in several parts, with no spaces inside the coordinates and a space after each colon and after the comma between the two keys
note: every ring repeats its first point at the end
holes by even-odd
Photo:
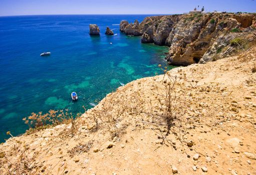
{"type": "Polygon", "coordinates": [[[75,120],[11,137],[0,174],[253,174],[256,47],[159,68],[75,120]]]}

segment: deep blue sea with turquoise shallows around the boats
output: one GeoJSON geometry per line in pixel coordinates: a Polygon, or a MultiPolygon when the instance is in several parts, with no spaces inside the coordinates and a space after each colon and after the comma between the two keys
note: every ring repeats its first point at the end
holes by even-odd
{"type": "MultiPolygon", "coordinates": [[[[0,17],[0,142],[24,133],[31,112],[84,112],[122,83],[162,73],[166,46],[143,44],[119,31],[122,19],[148,15],[33,15],[0,17]],[[89,35],[89,24],[100,36],[89,35]],[[105,35],[106,27],[115,35],[105,35]],[[112,42],[113,44],[110,44],[112,42]],[[42,57],[40,53],[50,51],[42,57]],[[71,92],[79,99],[74,102],[71,92]]],[[[169,68],[172,68],[169,66],[169,68]]]]}

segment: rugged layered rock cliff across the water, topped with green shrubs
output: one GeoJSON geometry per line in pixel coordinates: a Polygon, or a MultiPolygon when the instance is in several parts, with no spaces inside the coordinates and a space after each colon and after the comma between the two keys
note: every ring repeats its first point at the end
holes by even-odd
{"type": "MultiPolygon", "coordinates": [[[[205,63],[231,55],[233,39],[255,41],[255,14],[207,13],[146,17],[139,25],[124,24],[126,34],[141,42],[170,46],[166,60],[173,65],[205,63]],[[136,33],[136,34],[135,34],[136,33]]],[[[128,23],[128,22],[126,22],[128,23]]]]}

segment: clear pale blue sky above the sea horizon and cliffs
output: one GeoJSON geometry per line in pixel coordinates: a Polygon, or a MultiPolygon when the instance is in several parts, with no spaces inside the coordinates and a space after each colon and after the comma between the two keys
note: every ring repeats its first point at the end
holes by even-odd
{"type": "Polygon", "coordinates": [[[206,11],[256,12],[256,0],[0,0],[0,15],[174,14],[197,5],[206,11]]]}

